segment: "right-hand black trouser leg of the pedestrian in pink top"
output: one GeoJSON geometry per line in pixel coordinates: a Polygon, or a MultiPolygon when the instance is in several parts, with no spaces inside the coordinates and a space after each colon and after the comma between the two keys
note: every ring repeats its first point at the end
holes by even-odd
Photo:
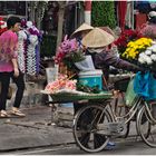
{"type": "Polygon", "coordinates": [[[17,92],[16,92],[16,98],[14,98],[14,104],[13,107],[19,108],[22,97],[23,97],[23,91],[25,91],[25,79],[23,79],[23,74],[20,72],[18,77],[14,77],[11,75],[11,78],[13,82],[17,85],[17,92]]]}

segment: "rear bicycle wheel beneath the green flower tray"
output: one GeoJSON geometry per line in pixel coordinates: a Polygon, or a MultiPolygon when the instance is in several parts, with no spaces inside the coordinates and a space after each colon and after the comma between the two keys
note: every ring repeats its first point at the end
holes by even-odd
{"type": "Polygon", "coordinates": [[[103,106],[89,105],[79,109],[74,119],[74,137],[77,145],[89,153],[104,149],[109,136],[98,126],[111,120],[110,114],[103,106]]]}

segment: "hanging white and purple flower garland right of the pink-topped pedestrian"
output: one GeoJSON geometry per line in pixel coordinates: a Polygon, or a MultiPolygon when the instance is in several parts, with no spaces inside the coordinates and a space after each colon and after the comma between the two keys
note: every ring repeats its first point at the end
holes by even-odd
{"type": "MultiPolygon", "coordinates": [[[[21,20],[21,27],[23,28],[22,35],[27,35],[27,42],[21,46],[19,49],[25,49],[25,70],[28,75],[33,76],[39,74],[39,61],[40,61],[40,52],[39,52],[39,43],[41,41],[41,31],[35,26],[32,21],[27,21],[26,19],[21,20]]],[[[23,59],[20,59],[21,61],[23,59]]]]}

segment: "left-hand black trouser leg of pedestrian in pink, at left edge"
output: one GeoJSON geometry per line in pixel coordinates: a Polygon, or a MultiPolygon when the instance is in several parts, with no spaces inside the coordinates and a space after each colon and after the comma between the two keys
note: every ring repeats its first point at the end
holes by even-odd
{"type": "Polygon", "coordinates": [[[0,110],[6,110],[7,95],[12,72],[0,72],[1,94],[0,94],[0,110]]]}

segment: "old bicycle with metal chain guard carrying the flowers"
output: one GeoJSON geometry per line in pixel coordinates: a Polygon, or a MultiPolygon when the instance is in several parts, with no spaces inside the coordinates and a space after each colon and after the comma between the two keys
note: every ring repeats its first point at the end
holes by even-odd
{"type": "Polygon", "coordinates": [[[90,101],[84,106],[74,118],[74,137],[77,145],[85,152],[100,152],[110,138],[125,135],[127,124],[137,115],[136,129],[138,135],[147,145],[156,147],[152,134],[155,130],[152,126],[156,125],[152,110],[156,103],[149,105],[143,97],[136,96],[133,104],[129,111],[121,117],[114,114],[110,100],[90,101]],[[89,118],[87,119],[86,116],[89,118]],[[146,129],[142,128],[145,124],[146,129]],[[97,140],[100,142],[96,145],[97,140]]]}

